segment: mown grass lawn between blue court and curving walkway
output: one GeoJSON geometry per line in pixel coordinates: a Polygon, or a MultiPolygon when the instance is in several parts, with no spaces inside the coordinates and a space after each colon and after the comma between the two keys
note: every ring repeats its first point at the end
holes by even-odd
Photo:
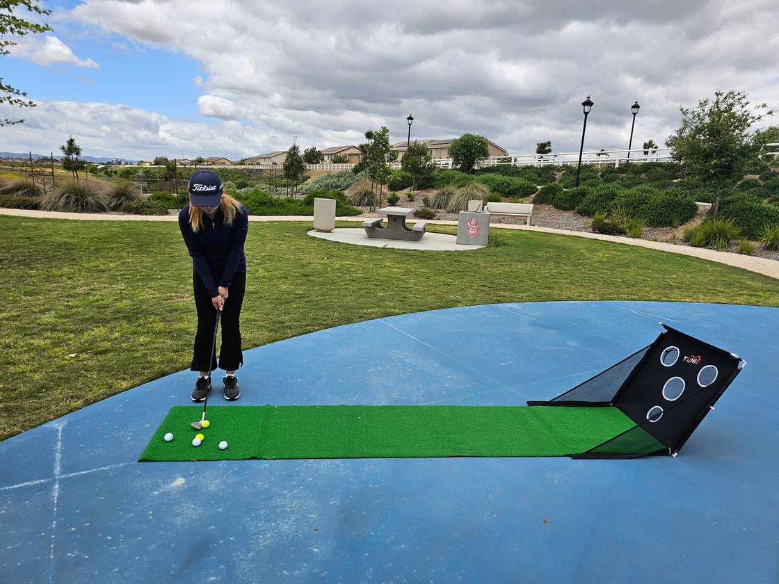
{"type": "MultiPolygon", "coordinates": [[[[0,228],[0,440],[189,368],[192,261],[176,223],[0,216],[0,228]]],[[[499,245],[420,252],[340,244],[309,237],[309,229],[250,223],[245,350],[474,304],[779,305],[779,281],[767,276],[608,241],[493,228],[499,245]]]]}

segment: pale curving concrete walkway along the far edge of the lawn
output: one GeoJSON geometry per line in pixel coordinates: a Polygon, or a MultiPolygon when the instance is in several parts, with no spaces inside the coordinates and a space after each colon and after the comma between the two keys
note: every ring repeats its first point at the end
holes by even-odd
{"type": "MultiPolygon", "coordinates": [[[[175,221],[176,216],[147,216],[147,215],[120,215],[110,213],[55,213],[51,211],[32,211],[27,209],[0,209],[0,215],[13,215],[25,217],[40,217],[48,219],[69,219],[69,220],[93,220],[93,221],[175,221]]],[[[250,215],[250,221],[308,221],[313,224],[313,217],[310,216],[259,216],[250,215]]],[[[363,216],[337,217],[337,221],[361,222],[365,220],[363,216]]],[[[428,224],[456,225],[456,221],[428,221],[428,224]]],[[[664,243],[662,241],[649,241],[646,239],[633,239],[633,237],[615,237],[613,235],[603,235],[596,233],[587,233],[584,231],[569,231],[562,229],[550,229],[548,227],[535,227],[532,225],[511,225],[507,223],[494,223],[491,225],[495,229],[518,229],[529,231],[541,231],[559,235],[572,235],[574,237],[588,237],[590,239],[601,239],[612,241],[612,243],[621,243],[625,245],[636,245],[642,248],[657,249],[661,252],[678,253],[682,255],[693,255],[697,258],[708,259],[712,262],[727,264],[737,268],[747,269],[750,272],[760,273],[763,276],[779,279],[779,262],[773,259],[757,258],[752,255],[741,255],[728,252],[717,252],[708,248],[693,248],[689,245],[675,245],[664,243]]],[[[456,246],[462,248],[464,246],[456,246]]]]}

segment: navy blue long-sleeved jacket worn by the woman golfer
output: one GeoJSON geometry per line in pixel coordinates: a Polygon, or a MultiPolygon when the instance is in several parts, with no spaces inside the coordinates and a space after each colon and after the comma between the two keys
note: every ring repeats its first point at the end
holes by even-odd
{"type": "Polygon", "coordinates": [[[219,296],[217,287],[230,287],[235,273],[246,273],[244,243],[249,230],[246,207],[235,213],[232,225],[224,223],[222,209],[213,221],[203,213],[203,225],[197,233],[189,224],[189,205],[178,213],[178,228],[192,256],[192,271],[200,276],[211,297],[219,296]]]}

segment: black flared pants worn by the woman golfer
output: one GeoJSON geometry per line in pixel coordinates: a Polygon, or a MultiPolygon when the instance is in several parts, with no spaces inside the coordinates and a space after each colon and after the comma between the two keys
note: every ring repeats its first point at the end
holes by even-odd
{"type": "MultiPolygon", "coordinates": [[[[214,327],[217,324],[217,309],[213,308],[211,294],[197,274],[192,277],[192,288],[195,292],[195,307],[197,308],[197,332],[191,371],[214,371],[217,368],[217,354],[212,349],[212,343],[214,327]]],[[[218,366],[224,371],[233,371],[243,364],[239,321],[245,290],[246,274],[236,273],[230,284],[230,294],[224,301],[224,308],[222,308],[220,316],[222,343],[219,350],[218,366]]]]}

